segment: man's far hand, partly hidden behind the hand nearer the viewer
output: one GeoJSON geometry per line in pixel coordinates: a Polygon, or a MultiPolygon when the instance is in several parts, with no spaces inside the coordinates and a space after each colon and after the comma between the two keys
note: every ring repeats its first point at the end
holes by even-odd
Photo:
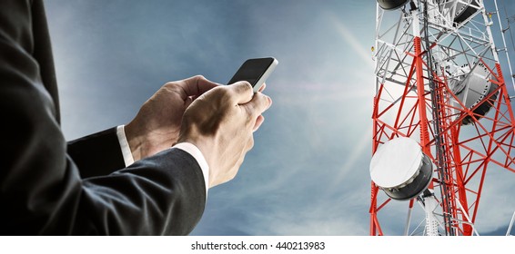
{"type": "Polygon", "coordinates": [[[125,127],[134,161],[152,156],[177,142],[181,120],[189,104],[217,86],[203,76],[163,85],[125,127]]]}

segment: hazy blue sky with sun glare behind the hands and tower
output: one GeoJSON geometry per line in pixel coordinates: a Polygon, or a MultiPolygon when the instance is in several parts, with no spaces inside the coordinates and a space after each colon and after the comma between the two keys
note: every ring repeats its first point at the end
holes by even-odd
{"type": "MultiPolygon", "coordinates": [[[[375,1],[45,3],[67,139],[129,122],[168,81],[227,83],[247,58],[278,59],[256,145],[209,190],[194,235],[369,234],[375,1]]],[[[506,228],[512,197],[485,200],[511,207],[486,212],[482,231],[506,228]]]]}

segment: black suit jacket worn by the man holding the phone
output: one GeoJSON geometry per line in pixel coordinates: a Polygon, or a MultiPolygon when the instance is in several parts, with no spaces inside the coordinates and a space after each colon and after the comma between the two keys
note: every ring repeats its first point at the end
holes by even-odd
{"type": "Polygon", "coordinates": [[[66,143],[40,0],[0,0],[0,234],[188,234],[197,161],[170,149],[124,169],[115,129],[66,143]]]}

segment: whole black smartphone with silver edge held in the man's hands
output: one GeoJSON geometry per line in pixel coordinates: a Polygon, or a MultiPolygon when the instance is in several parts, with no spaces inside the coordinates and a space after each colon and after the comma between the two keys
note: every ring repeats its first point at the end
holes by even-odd
{"type": "Polygon", "coordinates": [[[254,88],[254,93],[257,93],[277,65],[278,60],[273,57],[248,59],[227,84],[247,81],[254,88]]]}

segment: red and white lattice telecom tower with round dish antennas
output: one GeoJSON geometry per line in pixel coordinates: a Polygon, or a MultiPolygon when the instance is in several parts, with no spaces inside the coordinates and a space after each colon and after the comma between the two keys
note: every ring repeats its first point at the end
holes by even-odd
{"type": "Polygon", "coordinates": [[[515,172],[491,15],[483,0],[378,0],[370,235],[402,213],[406,235],[477,234],[486,172],[515,172]]]}

